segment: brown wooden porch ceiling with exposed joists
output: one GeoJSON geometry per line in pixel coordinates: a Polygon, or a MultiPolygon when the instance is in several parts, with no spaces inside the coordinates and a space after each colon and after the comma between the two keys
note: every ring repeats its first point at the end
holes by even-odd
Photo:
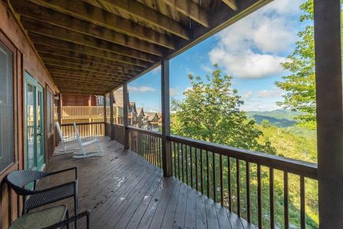
{"type": "Polygon", "coordinates": [[[8,0],[61,93],[103,95],[272,0],[8,0]]]}

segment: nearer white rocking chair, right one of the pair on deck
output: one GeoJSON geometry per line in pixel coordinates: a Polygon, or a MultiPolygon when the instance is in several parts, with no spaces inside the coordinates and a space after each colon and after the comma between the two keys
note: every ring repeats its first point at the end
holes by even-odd
{"type": "Polygon", "coordinates": [[[76,124],[74,123],[74,130],[76,133],[76,138],[78,140],[79,143],[79,147],[80,147],[80,153],[76,154],[75,152],[73,153],[74,156],[73,158],[88,158],[91,156],[102,156],[102,154],[104,153],[104,149],[102,149],[100,143],[99,143],[99,138],[97,138],[97,136],[95,137],[91,137],[91,138],[81,138],[80,137],[80,133],[78,128],[76,127],[76,124]],[[96,144],[97,145],[97,152],[88,152],[86,153],[86,151],[84,150],[84,146],[86,145],[91,145],[91,144],[96,144]]]}

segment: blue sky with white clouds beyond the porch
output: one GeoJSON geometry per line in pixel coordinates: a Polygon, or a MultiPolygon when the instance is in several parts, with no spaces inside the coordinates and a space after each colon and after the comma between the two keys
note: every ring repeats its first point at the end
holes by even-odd
{"type": "MultiPolygon", "coordinates": [[[[292,53],[296,34],[310,22],[300,23],[299,5],[305,0],[274,0],[257,12],[170,60],[170,94],[182,99],[189,88],[187,75],[211,73],[213,64],[233,76],[245,104],[241,110],[275,110],[282,100],[274,84],[287,71],[280,63],[292,53]]],[[[128,84],[130,101],[147,111],[161,110],[161,69],[158,67],[128,84]]]]}

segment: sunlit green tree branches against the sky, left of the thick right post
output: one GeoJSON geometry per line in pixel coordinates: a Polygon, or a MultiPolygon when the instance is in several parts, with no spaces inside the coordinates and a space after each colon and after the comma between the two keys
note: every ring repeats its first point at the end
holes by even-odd
{"type": "MultiPolygon", "coordinates": [[[[304,14],[300,16],[300,22],[314,20],[314,2],[308,0],[300,9],[304,14]]],[[[284,76],[283,81],[276,82],[276,86],[286,91],[283,101],[277,104],[283,108],[303,112],[294,117],[298,125],[309,130],[316,129],[316,76],[314,60],[314,26],[307,25],[298,33],[300,40],[296,42],[296,48],[287,61],[281,66],[291,74],[284,76]]]]}

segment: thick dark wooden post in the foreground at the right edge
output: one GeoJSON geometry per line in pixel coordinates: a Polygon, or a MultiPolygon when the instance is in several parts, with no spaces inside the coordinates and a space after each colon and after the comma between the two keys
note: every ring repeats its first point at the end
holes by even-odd
{"type": "Polygon", "coordinates": [[[341,1],[314,1],[320,228],[343,226],[341,1]]]}

